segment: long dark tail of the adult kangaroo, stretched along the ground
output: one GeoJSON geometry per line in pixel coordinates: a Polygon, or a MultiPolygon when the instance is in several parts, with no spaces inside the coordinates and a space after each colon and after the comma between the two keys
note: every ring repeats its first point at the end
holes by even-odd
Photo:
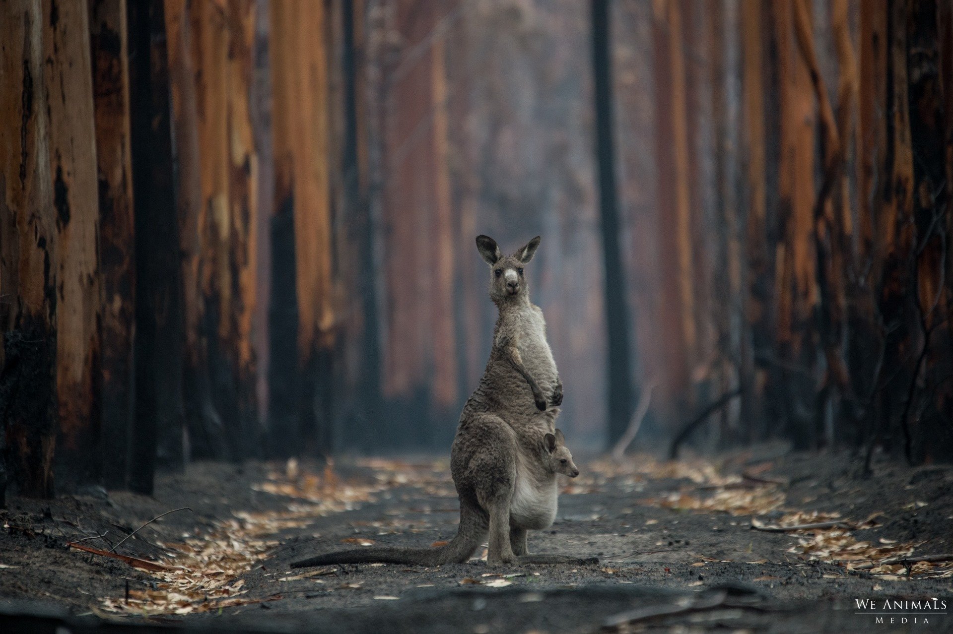
{"type": "Polygon", "coordinates": [[[292,564],[293,568],[330,564],[462,564],[470,559],[486,534],[482,512],[469,505],[460,505],[460,525],[450,544],[438,548],[398,548],[370,546],[338,550],[316,555],[292,564]]]}

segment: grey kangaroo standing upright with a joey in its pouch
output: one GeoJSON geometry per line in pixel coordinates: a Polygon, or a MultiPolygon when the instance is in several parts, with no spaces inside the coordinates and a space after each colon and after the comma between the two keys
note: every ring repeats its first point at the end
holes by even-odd
{"type": "Polygon", "coordinates": [[[476,248],[491,267],[490,298],[499,316],[483,377],[456,427],[450,468],[460,499],[460,524],[450,544],[438,548],[372,546],[342,550],[292,564],[441,565],[464,563],[489,533],[487,563],[592,564],[596,559],[531,555],[527,530],[553,524],[557,474],[579,471],[556,428],[562,384],[546,342],[542,310],[530,302],[523,267],[539,237],[510,256],[485,235],[476,248]]]}

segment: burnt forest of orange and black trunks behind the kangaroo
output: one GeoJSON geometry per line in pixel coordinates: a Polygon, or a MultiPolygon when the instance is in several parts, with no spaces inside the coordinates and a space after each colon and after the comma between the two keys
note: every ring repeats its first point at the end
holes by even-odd
{"type": "Polygon", "coordinates": [[[2,0],[0,82],[13,491],[446,451],[478,233],[576,450],[953,458],[949,2],[2,0]]]}

